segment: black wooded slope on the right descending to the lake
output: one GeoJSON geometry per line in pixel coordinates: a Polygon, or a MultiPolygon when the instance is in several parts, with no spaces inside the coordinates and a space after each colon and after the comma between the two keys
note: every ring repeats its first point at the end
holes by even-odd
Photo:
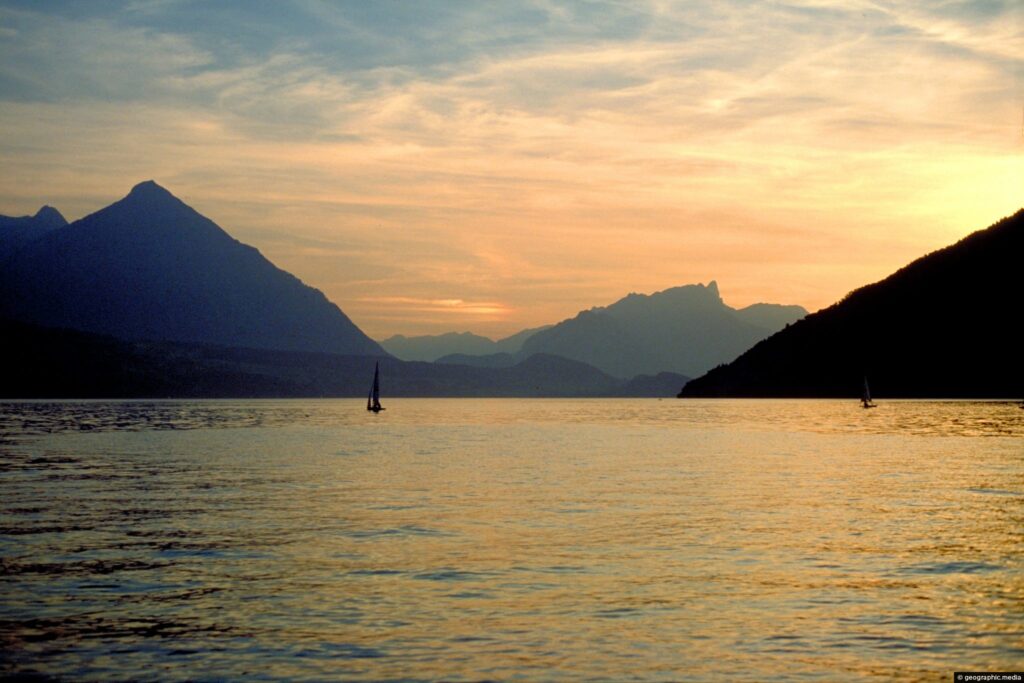
{"type": "Polygon", "coordinates": [[[1024,210],[862,287],[683,396],[1021,397],[1024,210]]]}

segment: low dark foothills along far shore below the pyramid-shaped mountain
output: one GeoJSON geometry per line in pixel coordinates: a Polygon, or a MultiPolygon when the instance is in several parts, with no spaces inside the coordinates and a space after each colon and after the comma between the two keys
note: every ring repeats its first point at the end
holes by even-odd
{"type": "MultiPolygon", "coordinates": [[[[365,397],[375,358],[167,341],[0,321],[0,397],[365,397]]],[[[379,358],[383,402],[399,396],[663,396],[686,377],[624,381],[538,353],[481,369],[379,358]]]]}

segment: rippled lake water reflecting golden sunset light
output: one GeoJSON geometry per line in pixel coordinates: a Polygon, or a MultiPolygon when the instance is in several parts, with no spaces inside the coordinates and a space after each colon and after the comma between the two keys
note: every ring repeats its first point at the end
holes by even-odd
{"type": "Polygon", "coordinates": [[[1024,669],[1010,402],[0,404],[0,675],[1024,669]]]}

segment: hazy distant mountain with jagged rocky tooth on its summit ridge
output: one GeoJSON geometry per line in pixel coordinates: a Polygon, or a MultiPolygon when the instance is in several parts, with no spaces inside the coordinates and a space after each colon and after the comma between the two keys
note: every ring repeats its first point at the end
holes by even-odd
{"type": "Polygon", "coordinates": [[[582,311],[526,339],[519,356],[561,355],[622,378],[660,372],[693,377],[806,314],[800,306],[775,304],[731,308],[713,281],[630,294],[582,311]]]}

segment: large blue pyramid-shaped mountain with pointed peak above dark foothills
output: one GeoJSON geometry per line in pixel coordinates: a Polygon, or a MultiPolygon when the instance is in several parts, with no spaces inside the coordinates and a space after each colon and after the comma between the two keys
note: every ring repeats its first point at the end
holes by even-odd
{"type": "Polygon", "coordinates": [[[385,355],[323,293],[152,180],[24,244],[0,286],[0,315],[43,326],[125,340],[385,355]]]}

